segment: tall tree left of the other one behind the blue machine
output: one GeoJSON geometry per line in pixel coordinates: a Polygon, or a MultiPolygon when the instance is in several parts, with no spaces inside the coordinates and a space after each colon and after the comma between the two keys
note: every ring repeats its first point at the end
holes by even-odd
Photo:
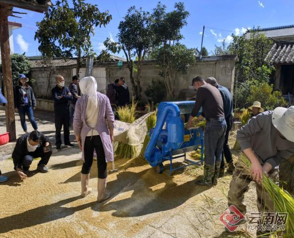
{"type": "Polygon", "coordinates": [[[154,44],[151,23],[148,12],[132,6],[119,24],[118,42],[111,42],[109,38],[104,42],[105,47],[113,53],[123,51],[136,100],[141,98],[142,63],[154,44]]]}

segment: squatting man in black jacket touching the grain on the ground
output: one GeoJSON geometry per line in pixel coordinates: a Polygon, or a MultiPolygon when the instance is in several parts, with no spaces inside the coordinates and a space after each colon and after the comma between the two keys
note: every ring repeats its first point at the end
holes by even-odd
{"type": "Polygon", "coordinates": [[[41,157],[37,169],[43,173],[48,172],[46,165],[52,154],[51,148],[49,138],[41,132],[33,131],[30,134],[21,136],[12,152],[14,169],[20,178],[25,179],[27,177],[33,158],[41,157]]]}

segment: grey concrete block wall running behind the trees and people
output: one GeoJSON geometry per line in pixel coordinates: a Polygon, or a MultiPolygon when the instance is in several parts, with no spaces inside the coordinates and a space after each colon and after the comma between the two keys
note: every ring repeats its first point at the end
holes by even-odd
{"type": "MultiPolygon", "coordinates": [[[[203,57],[202,61],[197,61],[190,67],[188,74],[182,74],[180,72],[177,74],[175,95],[177,96],[182,89],[188,89],[192,83],[192,79],[197,75],[202,76],[204,79],[213,76],[222,86],[228,88],[230,92],[233,93],[236,60],[238,60],[236,55],[203,57]]],[[[85,71],[85,68],[80,69],[80,78],[85,76],[85,71]]],[[[152,79],[162,79],[162,77],[159,76],[159,71],[156,63],[144,63],[141,77],[143,98],[146,98],[144,92],[147,86],[151,84],[152,79]]],[[[42,68],[33,68],[31,69],[31,74],[32,78],[36,80],[34,85],[35,95],[37,97],[46,95],[48,83],[45,78],[44,70],[42,68]]],[[[56,85],[55,76],[57,74],[61,74],[65,78],[65,84],[68,86],[72,81],[73,75],[75,75],[75,68],[73,66],[58,68],[51,77],[51,88],[56,85]]],[[[97,80],[99,92],[106,94],[106,88],[109,83],[117,78],[124,77],[126,84],[129,86],[130,95],[133,95],[129,70],[125,63],[121,69],[117,67],[117,63],[94,64],[92,74],[97,80]]]]}

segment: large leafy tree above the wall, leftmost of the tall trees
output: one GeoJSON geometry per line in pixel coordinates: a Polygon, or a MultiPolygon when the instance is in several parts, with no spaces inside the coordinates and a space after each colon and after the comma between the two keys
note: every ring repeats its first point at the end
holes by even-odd
{"type": "Polygon", "coordinates": [[[93,54],[91,37],[95,27],[105,26],[112,18],[108,11],[100,12],[96,4],[84,1],[73,0],[73,7],[70,7],[68,0],[57,0],[45,13],[44,19],[37,23],[35,34],[44,57],[77,56],[77,75],[82,56],[93,54]]]}

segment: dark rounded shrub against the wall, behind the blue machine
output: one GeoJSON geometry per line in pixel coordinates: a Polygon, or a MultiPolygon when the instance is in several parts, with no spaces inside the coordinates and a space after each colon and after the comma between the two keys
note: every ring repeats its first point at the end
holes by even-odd
{"type": "Polygon", "coordinates": [[[162,80],[152,79],[151,85],[147,86],[145,95],[148,97],[149,101],[153,101],[154,104],[157,104],[162,101],[165,96],[166,88],[162,80]]]}

